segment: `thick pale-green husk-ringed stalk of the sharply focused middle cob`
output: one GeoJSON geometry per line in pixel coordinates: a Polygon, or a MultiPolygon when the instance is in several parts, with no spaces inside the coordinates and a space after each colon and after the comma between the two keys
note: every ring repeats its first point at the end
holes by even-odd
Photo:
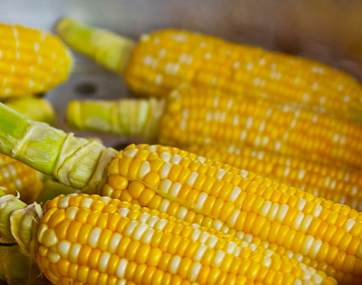
{"type": "Polygon", "coordinates": [[[104,168],[116,155],[95,140],[26,119],[0,103],[0,152],[53,176],[62,184],[94,193],[104,168]]]}

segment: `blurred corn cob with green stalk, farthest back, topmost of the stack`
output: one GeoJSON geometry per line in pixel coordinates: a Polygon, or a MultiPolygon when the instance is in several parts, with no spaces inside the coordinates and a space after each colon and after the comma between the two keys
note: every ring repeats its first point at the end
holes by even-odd
{"type": "Polygon", "coordinates": [[[362,111],[360,83],[308,59],[177,30],[143,35],[136,44],[70,18],[59,22],[57,33],[72,48],[123,74],[140,95],[167,97],[189,83],[344,116],[360,118],[362,111]]]}

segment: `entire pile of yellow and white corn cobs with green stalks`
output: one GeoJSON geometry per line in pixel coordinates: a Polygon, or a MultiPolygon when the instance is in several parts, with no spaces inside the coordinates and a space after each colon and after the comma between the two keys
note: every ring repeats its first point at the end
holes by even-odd
{"type": "MultiPolygon", "coordinates": [[[[53,284],[361,284],[357,81],[185,31],[135,43],[64,19],[57,32],[149,97],[71,102],[70,126],[157,144],[118,152],[0,102],[0,186],[15,178],[0,191],[0,242],[17,242],[53,284]],[[15,163],[81,193],[24,203],[11,195],[24,187],[15,163]]],[[[0,34],[4,98],[68,76],[55,36],[0,34]]]]}

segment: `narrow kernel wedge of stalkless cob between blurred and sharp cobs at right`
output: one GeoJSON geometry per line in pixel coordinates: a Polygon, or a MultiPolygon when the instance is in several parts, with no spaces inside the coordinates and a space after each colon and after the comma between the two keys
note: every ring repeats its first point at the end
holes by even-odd
{"type": "Polygon", "coordinates": [[[362,211],[362,170],[359,168],[320,164],[300,157],[255,151],[251,147],[192,145],[183,149],[362,211]]]}

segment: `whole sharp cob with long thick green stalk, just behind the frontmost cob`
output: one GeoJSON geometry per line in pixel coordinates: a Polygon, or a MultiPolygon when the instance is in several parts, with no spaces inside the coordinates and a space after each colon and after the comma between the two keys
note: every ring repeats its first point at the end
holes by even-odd
{"type": "Polygon", "coordinates": [[[0,109],[0,152],[65,185],[253,240],[340,284],[362,279],[362,214],[347,205],[176,147],[118,153],[0,109]]]}

